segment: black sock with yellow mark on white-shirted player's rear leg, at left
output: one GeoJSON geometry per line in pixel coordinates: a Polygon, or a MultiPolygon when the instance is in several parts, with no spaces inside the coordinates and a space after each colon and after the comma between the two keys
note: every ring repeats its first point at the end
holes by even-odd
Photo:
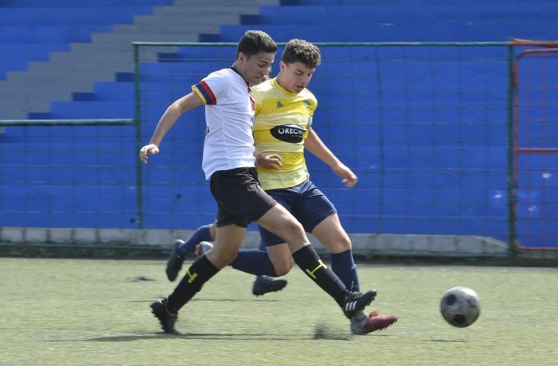
{"type": "Polygon", "coordinates": [[[190,298],[202,289],[204,283],[211,277],[216,275],[219,269],[213,266],[211,261],[206,256],[200,257],[195,261],[186,275],[184,275],[181,282],[176,286],[174,292],[169,295],[167,307],[169,312],[176,314],[183,307],[190,298]]]}

